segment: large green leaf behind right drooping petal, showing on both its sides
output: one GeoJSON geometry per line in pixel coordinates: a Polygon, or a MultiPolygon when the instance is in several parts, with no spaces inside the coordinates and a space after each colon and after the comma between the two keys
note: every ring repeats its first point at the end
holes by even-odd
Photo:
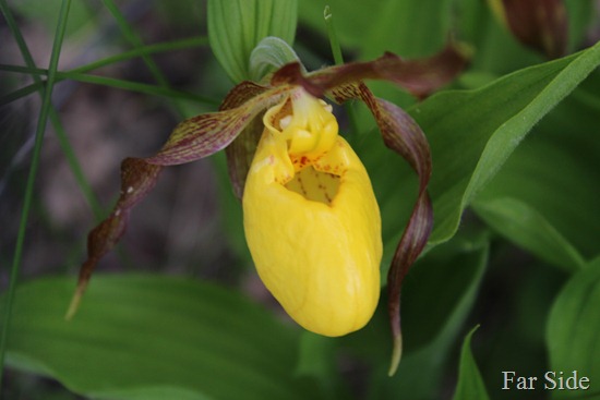
{"type": "MultiPolygon", "coordinates": [[[[597,44],[479,89],[442,92],[408,109],[428,136],[432,153],[429,191],[434,227],[430,245],[455,234],[465,208],[502,170],[529,131],[599,64],[597,44]]],[[[385,268],[410,214],[417,182],[404,161],[377,141],[362,136],[351,144],[369,171],[380,203],[385,268]]]]}

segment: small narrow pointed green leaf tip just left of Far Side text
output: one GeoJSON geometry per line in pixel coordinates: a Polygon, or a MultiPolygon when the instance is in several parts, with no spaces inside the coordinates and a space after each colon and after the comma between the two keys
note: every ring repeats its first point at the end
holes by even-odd
{"type": "Polygon", "coordinates": [[[471,329],[463,342],[463,350],[460,352],[460,369],[458,372],[458,385],[456,387],[456,391],[454,392],[453,400],[490,399],[470,349],[471,338],[477,328],[479,328],[479,326],[471,329]]]}

